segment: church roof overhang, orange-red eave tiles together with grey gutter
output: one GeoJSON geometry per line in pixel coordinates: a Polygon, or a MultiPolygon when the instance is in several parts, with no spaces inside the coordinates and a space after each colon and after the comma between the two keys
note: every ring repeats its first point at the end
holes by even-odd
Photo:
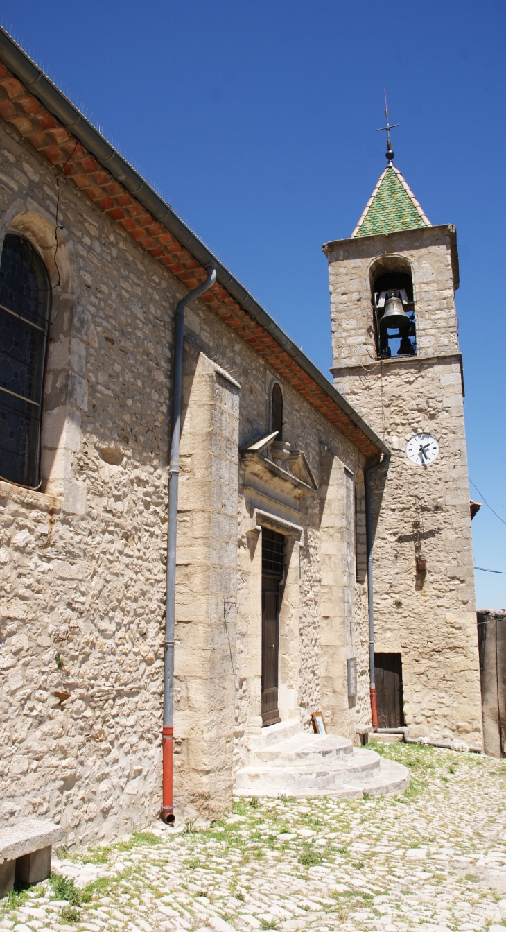
{"type": "Polygon", "coordinates": [[[144,178],[0,27],[0,117],[202,301],[366,457],[389,448],[144,178]]]}

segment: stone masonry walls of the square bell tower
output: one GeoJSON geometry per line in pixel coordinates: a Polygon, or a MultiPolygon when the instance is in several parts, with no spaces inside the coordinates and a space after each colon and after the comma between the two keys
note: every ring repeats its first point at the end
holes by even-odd
{"type": "Polygon", "coordinates": [[[404,718],[413,735],[481,741],[474,576],[452,227],[330,243],[335,386],[390,447],[373,473],[376,652],[401,652],[404,718]],[[376,360],[371,277],[411,268],[418,355],[376,360]],[[378,265],[379,264],[379,265],[378,265]],[[431,432],[427,469],[405,456],[431,432]],[[414,523],[419,523],[419,528],[414,523]],[[427,561],[417,574],[415,538],[427,561]]]}

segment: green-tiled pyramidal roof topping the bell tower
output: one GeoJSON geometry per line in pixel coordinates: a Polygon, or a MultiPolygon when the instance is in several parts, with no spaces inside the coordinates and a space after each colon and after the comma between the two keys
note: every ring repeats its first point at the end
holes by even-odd
{"type": "Polygon", "coordinates": [[[416,226],[431,226],[431,222],[399,169],[389,162],[351,236],[376,236],[416,226]]]}

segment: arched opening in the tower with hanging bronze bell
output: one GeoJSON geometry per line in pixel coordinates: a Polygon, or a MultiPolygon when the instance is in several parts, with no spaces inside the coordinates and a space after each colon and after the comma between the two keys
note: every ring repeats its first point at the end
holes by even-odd
{"type": "Polygon", "coordinates": [[[405,259],[392,256],[372,269],[371,303],[378,358],[416,356],[413,278],[405,259]]]}

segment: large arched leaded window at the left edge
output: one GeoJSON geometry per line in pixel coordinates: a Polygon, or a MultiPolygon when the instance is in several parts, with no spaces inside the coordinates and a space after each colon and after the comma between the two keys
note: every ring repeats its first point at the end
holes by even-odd
{"type": "Polygon", "coordinates": [[[4,240],[0,262],[0,478],[40,485],[40,422],[51,289],[32,244],[4,240]]]}

